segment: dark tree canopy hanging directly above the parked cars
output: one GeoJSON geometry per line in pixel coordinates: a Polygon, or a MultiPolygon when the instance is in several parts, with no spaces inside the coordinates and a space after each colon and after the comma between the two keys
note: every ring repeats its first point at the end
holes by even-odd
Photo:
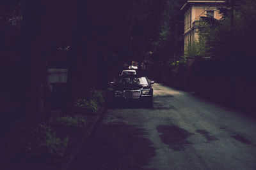
{"type": "Polygon", "coordinates": [[[98,25],[108,27],[97,29],[99,36],[95,39],[99,42],[99,51],[113,67],[118,66],[115,62],[140,62],[147,57],[148,51],[153,50],[160,33],[168,32],[162,30],[163,23],[168,20],[168,15],[164,12],[169,8],[168,2],[169,0],[100,1],[95,13],[102,15],[104,20],[96,22],[105,22],[98,25]]]}

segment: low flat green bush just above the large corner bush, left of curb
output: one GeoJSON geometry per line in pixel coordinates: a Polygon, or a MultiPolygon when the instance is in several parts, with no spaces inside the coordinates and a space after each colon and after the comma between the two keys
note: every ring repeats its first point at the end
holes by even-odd
{"type": "Polygon", "coordinates": [[[86,125],[84,118],[73,118],[73,117],[57,117],[51,118],[49,124],[56,128],[83,128],[86,125]]]}

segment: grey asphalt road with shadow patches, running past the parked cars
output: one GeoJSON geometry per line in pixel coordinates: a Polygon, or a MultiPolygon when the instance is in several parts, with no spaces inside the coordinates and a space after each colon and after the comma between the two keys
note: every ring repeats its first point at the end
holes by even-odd
{"type": "Polygon", "coordinates": [[[154,108],[108,109],[70,169],[256,169],[256,121],[155,83],[154,108]]]}

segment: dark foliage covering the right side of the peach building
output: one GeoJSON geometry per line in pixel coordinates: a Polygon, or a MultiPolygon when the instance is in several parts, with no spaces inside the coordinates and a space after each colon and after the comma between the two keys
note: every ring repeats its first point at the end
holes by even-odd
{"type": "MultiPolygon", "coordinates": [[[[233,11],[232,8],[220,8],[221,20],[201,17],[199,34],[205,39],[204,55],[212,59],[229,57],[238,64],[241,56],[244,61],[252,60],[254,56],[256,1],[232,0],[231,3],[233,11]]],[[[230,7],[230,4],[227,5],[230,7]]]]}

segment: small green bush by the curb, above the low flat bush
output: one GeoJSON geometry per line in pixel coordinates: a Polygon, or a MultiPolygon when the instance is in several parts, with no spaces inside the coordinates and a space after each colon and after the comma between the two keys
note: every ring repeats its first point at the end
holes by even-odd
{"type": "Polygon", "coordinates": [[[98,110],[99,106],[93,99],[90,99],[90,101],[87,101],[86,99],[77,99],[75,103],[76,113],[95,113],[98,110]]]}

